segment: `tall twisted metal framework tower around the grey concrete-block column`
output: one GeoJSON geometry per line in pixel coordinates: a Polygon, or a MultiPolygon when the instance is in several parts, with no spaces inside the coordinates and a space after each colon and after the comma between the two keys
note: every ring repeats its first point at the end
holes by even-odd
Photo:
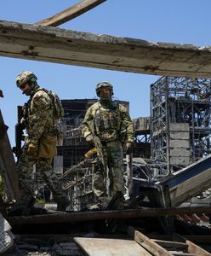
{"type": "Polygon", "coordinates": [[[185,165],[172,164],[170,124],[189,125],[190,163],[210,154],[211,79],[162,77],[151,84],[151,159],[154,176],[185,165]]]}

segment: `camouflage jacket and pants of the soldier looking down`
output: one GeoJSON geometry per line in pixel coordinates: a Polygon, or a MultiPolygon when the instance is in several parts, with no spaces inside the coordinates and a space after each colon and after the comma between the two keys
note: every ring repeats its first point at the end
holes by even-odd
{"type": "MultiPolygon", "coordinates": [[[[30,206],[34,195],[34,180],[32,179],[33,166],[36,164],[37,170],[48,188],[52,191],[54,201],[57,202],[58,210],[65,210],[69,200],[60,187],[60,181],[55,176],[52,169],[52,157],[44,158],[39,156],[39,145],[44,137],[56,137],[57,129],[54,126],[54,115],[52,102],[47,92],[42,90],[37,84],[31,90],[30,100],[23,107],[24,118],[22,122],[26,127],[28,137],[26,137],[23,154],[18,162],[18,175],[20,180],[20,197],[16,201],[16,206],[30,206]],[[37,155],[29,155],[30,145],[37,147],[37,155]]],[[[54,149],[56,143],[54,143],[54,149]]],[[[56,150],[55,150],[56,152],[56,150]]]]}

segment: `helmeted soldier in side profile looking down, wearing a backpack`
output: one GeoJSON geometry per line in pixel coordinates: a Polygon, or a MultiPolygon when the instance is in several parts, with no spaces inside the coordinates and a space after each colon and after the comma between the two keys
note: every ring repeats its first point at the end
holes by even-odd
{"type": "Polygon", "coordinates": [[[27,137],[20,156],[17,170],[20,181],[20,196],[14,204],[17,207],[31,207],[34,203],[34,180],[31,177],[33,166],[48,188],[52,191],[58,211],[65,211],[69,200],[61,189],[60,182],[53,172],[51,163],[56,154],[58,130],[54,119],[52,100],[47,90],[40,88],[37,77],[30,71],[20,73],[16,78],[17,87],[30,99],[23,107],[22,123],[27,137]]]}

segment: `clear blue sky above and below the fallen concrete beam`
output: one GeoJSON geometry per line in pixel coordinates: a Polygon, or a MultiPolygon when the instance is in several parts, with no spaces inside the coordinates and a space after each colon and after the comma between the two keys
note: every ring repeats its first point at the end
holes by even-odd
{"type": "MultiPolygon", "coordinates": [[[[33,24],[71,7],[78,1],[2,1],[0,20],[33,24]]],[[[117,37],[139,38],[150,42],[210,44],[210,0],[107,0],[87,13],[66,22],[61,28],[109,34],[117,37]]],[[[130,102],[132,118],[150,115],[150,84],[158,76],[123,73],[109,70],[74,67],[43,61],[26,61],[0,57],[1,83],[4,97],[0,108],[9,139],[14,146],[16,106],[28,97],[15,86],[18,73],[30,70],[37,75],[38,84],[54,90],[61,99],[93,98],[95,84],[110,81],[118,99],[130,102]]]]}

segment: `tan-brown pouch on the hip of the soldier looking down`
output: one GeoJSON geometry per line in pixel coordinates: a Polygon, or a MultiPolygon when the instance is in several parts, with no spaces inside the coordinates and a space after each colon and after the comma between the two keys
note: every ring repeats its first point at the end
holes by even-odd
{"type": "Polygon", "coordinates": [[[57,154],[57,136],[41,137],[39,141],[38,157],[52,158],[57,154]]]}

